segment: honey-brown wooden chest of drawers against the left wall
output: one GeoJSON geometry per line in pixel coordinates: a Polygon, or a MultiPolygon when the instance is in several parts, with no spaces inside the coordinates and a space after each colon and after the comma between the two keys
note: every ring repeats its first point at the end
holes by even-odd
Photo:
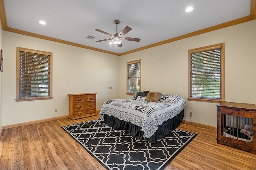
{"type": "Polygon", "coordinates": [[[69,115],[72,120],[96,115],[96,94],[68,94],[69,115]]]}

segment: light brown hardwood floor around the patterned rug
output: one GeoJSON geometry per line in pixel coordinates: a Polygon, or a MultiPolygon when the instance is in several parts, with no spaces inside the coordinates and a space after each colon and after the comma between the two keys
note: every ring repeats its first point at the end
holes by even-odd
{"type": "MultiPolygon", "coordinates": [[[[61,127],[99,116],[69,118],[3,129],[0,170],[105,170],[61,127]]],[[[178,129],[198,134],[166,170],[255,170],[256,155],[219,145],[216,130],[182,123],[178,129]]]]}

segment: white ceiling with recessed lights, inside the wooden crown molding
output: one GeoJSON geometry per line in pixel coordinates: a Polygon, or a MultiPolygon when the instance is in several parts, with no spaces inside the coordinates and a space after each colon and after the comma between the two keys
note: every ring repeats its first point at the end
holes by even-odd
{"type": "Polygon", "coordinates": [[[4,8],[10,28],[120,54],[249,16],[250,0],[4,0],[4,8]],[[110,36],[94,29],[116,33],[114,20],[120,20],[118,32],[129,26],[124,36],[141,41],[95,42],[110,36]]]}

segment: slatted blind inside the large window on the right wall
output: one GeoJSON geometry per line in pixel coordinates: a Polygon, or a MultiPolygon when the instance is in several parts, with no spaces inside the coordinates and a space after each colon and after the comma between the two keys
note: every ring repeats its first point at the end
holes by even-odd
{"type": "Polygon", "coordinates": [[[190,53],[190,97],[221,99],[221,47],[190,53]]]}

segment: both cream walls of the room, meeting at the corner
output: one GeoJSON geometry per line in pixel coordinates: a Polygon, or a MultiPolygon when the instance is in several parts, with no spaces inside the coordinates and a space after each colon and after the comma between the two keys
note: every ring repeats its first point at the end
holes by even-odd
{"type": "MultiPolygon", "coordinates": [[[[142,90],[188,97],[188,49],[225,43],[228,102],[256,104],[256,20],[117,57],[2,31],[2,125],[68,115],[70,93],[95,92],[97,109],[126,95],[126,62],[141,59],[142,90]],[[52,100],[16,102],[16,47],[53,53],[52,100]],[[109,89],[112,86],[112,89],[109,89]],[[58,112],[54,112],[57,108],[58,112]]],[[[186,120],[216,126],[216,103],[186,100],[186,120]]]]}

